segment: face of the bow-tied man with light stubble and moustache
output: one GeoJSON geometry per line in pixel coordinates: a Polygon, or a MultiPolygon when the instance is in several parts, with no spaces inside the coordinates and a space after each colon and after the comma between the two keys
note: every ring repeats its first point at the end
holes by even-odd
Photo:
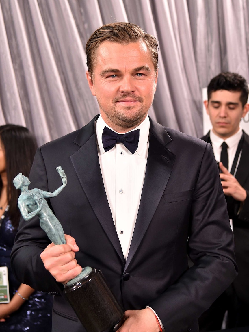
{"type": "Polygon", "coordinates": [[[104,121],[118,132],[126,132],[146,117],[156,91],[157,72],[144,42],[122,45],[100,44],[87,80],[97,97],[104,121]]]}

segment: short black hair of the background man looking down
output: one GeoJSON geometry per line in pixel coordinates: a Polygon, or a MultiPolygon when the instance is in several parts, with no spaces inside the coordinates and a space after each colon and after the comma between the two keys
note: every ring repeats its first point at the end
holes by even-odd
{"type": "Polygon", "coordinates": [[[220,73],[213,77],[207,86],[207,100],[211,98],[212,92],[218,90],[228,90],[241,92],[240,101],[244,107],[248,99],[248,85],[245,78],[237,73],[229,71],[220,73]]]}

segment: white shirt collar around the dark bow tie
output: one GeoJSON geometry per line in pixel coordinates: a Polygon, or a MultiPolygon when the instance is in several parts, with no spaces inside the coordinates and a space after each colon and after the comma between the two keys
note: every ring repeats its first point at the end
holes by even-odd
{"type": "MultiPolygon", "coordinates": [[[[105,150],[104,150],[103,144],[102,144],[102,133],[103,133],[105,126],[112,129],[113,131],[117,132],[116,130],[114,130],[108,124],[105,123],[105,121],[103,120],[101,115],[98,117],[98,120],[96,122],[96,136],[97,136],[97,143],[99,146],[99,152],[101,155],[105,153],[105,150]]],[[[137,147],[135,153],[138,153],[138,155],[140,156],[142,154],[143,149],[146,147],[146,145],[148,143],[148,139],[149,139],[150,121],[149,121],[148,115],[146,116],[146,118],[144,119],[144,121],[141,124],[139,124],[136,128],[129,130],[127,132],[130,132],[130,131],[133,131],[136,129],[139,129],[139,141],[138,141],[138,147],[137,147]]],[[[117,133],[120,134],[119,132],[117,132],[117,133]]]]}

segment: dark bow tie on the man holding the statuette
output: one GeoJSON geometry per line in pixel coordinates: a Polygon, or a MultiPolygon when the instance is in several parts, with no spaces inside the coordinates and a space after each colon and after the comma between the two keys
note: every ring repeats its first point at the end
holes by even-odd
{"type": "Polygon", "coordinates": [[[115,131],[105,127],[102,134],[102,143],[105,151],[111,150],[116,143],[123,143],[124,146],[134,154],[139,141],[139,129],[127,132],[126,134],[117,134],[115,131]]]}

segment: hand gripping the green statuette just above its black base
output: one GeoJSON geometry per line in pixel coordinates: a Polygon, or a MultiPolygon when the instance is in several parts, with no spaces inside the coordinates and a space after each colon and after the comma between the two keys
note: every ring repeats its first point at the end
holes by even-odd
{"type": "Polygon", "coordinates": [[[82,268],[75,259],[75,252],[79,250],[75,239],[65,234],[66,244],[49,244],[41,253],[41,260],[55,280],[66,284],[75,278],[82,268]]]}

